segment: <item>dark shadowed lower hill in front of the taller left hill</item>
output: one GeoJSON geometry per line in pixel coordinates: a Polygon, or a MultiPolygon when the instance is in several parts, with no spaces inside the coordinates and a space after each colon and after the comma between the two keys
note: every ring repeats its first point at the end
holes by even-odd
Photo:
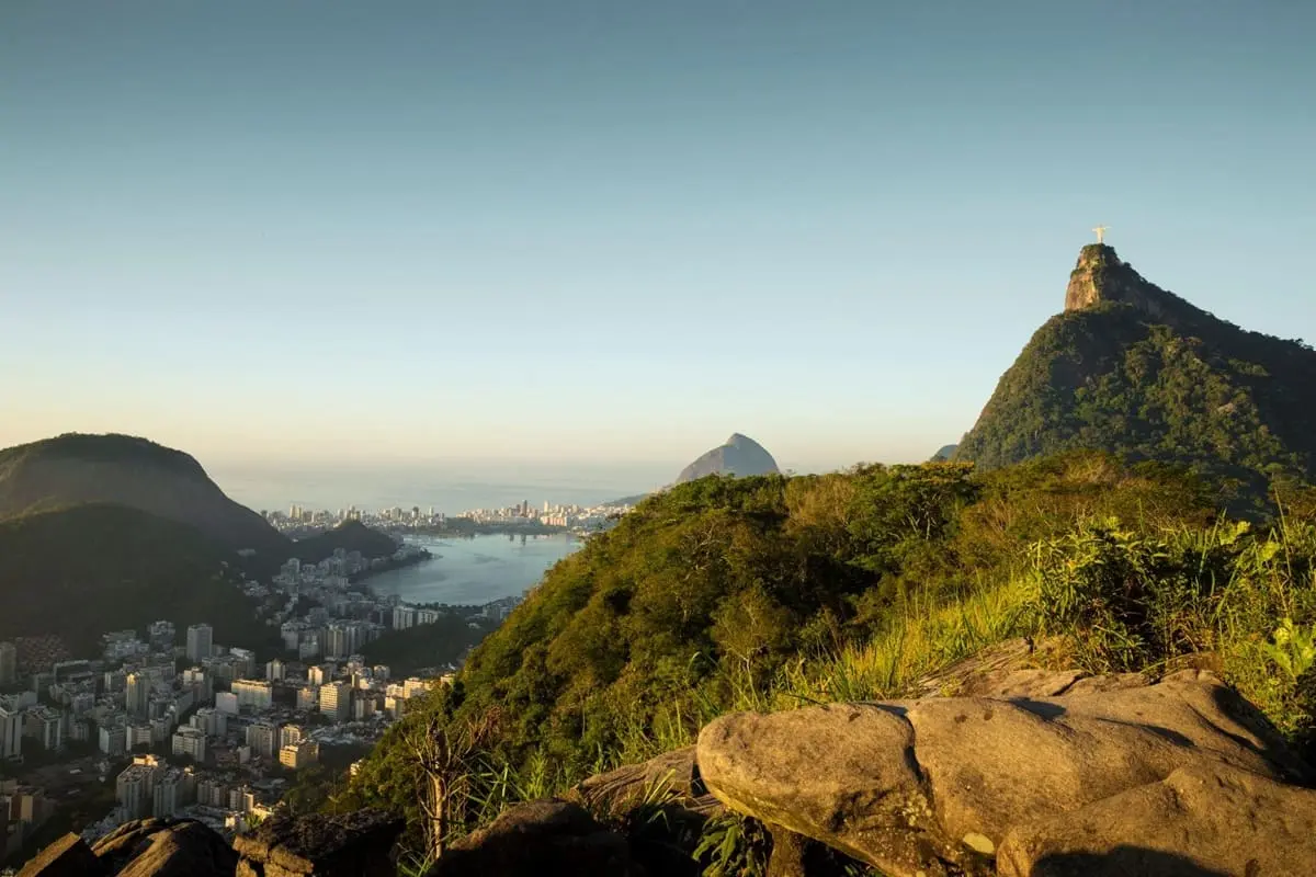
{"type": "Polygon", "coordinates": [[[270,628],[234,586],[237,556],[195,527],[117,505],[0,521],[0,639],[53,634],[76,655],[153,621],[209,622],[216,642],[259,646],[270,628]],[[228,567],[225,567],[228,564],[228,567]]]}

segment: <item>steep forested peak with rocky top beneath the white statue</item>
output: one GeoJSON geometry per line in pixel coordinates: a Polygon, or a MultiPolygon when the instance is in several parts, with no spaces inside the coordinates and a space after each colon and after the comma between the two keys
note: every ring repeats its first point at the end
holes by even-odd
{"type": "Polygon", "coordinates": [[[1246,331],[1083,247],[1065,313],[1001,376],[957,459],[995,468],[1073,448],[1227,475],[1316,477],[1316,351],[1246,331]]]}

